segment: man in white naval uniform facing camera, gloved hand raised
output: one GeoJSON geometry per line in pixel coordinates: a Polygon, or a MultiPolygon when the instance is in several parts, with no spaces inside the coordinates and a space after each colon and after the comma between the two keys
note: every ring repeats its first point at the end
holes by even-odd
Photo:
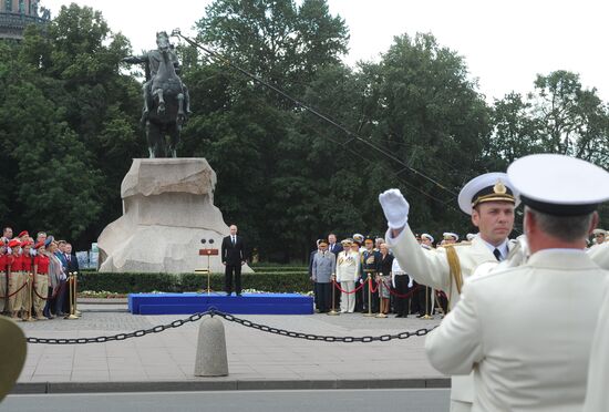
{"type": "MultiPolygon", "coordinates": [[[[390,189],[382,193],[379,200],[388,219],[385,239],[400,266],[420,285],[443,290],[448,309],[458,302],[464,279],[472,276],[478,265],[507,257],[518,197],[505,173],[481,175],[461,190],[458,205],[479,229],[479,236],[467,244],[426,250],[416,243],[407,225],[410,206],[402,193],[390,189]]],[[[473,401],[473,375],[453,377],[451,411],[469,411],[473,401]]]]}

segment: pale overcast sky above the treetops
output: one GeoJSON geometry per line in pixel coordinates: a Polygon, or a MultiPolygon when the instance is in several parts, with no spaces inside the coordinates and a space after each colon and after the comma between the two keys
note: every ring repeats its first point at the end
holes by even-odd
{"type": "MultiPolygon", "coordinates": [[[[42,0],[56,16],[72,1],[42,0]]],[[[210,0],[78,0],[102,11],[135,51],[153,49],[155,32],[188,33],[210,0]]],[[[609,100],[609,2],[601,0],[328,0],[347,22],[348,64],[379,60],[394,35],[433,33],[465,58],[487,100],[533,90],[537,73],[569,70],[609,100]]]]}

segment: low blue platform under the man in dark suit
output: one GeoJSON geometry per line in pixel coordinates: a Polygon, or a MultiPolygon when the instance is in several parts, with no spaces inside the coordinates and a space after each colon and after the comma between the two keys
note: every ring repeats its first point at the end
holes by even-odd
{"type": "Polygon", "coordinates": [[[312,315],[313,298],[297,293],[130,293],[133,315],[192,315],[209,308],[235,315],[312,315]]]}

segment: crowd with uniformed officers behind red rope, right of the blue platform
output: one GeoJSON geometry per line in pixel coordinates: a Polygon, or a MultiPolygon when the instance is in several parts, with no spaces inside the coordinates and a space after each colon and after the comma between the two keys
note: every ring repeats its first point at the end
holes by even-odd
{"type": "MultiPolygon", "coordinates": [[[[458,236],[445,233],[438,245],[454,244],[458,236]]],[[[432,249],[433,236],[416,235],[422,248],[432,249]]],[[[404,271],[382,237],[354,234],[340,243],[336,234],[317,240],[309,258],[316,311],[375,313],[385,318],[429,318],[447,311],[446,295],[419,285],[404,271]]]]}

